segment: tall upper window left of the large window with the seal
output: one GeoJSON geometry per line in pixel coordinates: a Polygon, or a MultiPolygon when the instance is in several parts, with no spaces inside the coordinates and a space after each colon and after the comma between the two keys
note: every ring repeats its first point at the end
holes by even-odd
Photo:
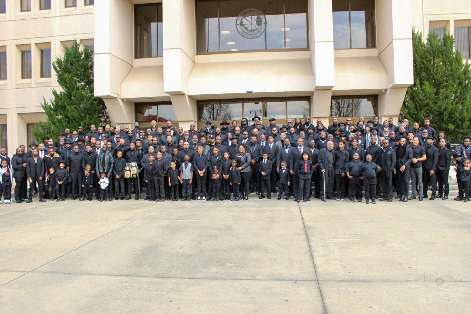
{"type": "Polygon", "coordinates": [[[135,5],[136,58],[163,56],[162,4],[135,5]]]}

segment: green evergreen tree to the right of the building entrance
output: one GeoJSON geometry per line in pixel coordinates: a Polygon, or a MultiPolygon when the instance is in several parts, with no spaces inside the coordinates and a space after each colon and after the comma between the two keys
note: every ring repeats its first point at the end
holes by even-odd
{"type": "Polygon", "coordinates": [[[471,70],[454,50],[454,39],[444,34],[440,39],[413,30],[414,85],[407,89],[401,117],[417,121],[431,119],[437,132],[444,131],[448,141],[460,143],[470,134],[471,70]]]}

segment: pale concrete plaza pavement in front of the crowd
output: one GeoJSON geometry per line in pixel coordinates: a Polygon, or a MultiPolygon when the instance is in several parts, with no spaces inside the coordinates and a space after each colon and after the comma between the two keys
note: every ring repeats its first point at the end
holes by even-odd
{"type": "Polygon", "coordinates": [[[0,205],[0,313],[470,313],[468,204],[0,205]]]}

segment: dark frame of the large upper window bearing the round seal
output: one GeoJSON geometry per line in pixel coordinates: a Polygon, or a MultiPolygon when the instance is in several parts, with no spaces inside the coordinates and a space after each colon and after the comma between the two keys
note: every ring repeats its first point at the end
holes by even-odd
{"type": "MultiPolygon", "coordinates": [[[[308,10],[306,10],[306,48],[283,48],[283,49],[255,49],[255,50],[238,50],[238,51],[221,51],[221,29],[220,29],[220,2],[231,1],[231,0],[195,0],[195,15],[197,12],[197,3],[198,2],[217,2],[217,19],[218,19],[218,51],[216,52],[198,52],[198,36],[196,35],[196,55],[206,55],[206,54],[226,54],[226,53],[250,53],[250,52],[282,52],[282,51],[306,51],[310,50],[309,48],[309,3],[307,5],[308,10]]],[[[285,1],[283,0],[283,27],[286,28],[286,10],[285,10],[285,1]]],[[[197,19],[195,18],[195,31],[197,32],[197,19]]],[[[284,45],[286,47],[286,31],[283,32],[284,36],[284,45]]]]}

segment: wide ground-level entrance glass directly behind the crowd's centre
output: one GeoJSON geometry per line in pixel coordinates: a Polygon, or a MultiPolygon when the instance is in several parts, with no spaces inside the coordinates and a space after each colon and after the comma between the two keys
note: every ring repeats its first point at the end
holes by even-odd
{"type": "Polygon", "coordinates": [[[265,100],[227,100],[199,101],[199,121],[242,120],[251,121],[253,116],[262,118],[268,123],[270,118],[289,119],[309,116],[308,99],[265,99],[265,100]]]}

